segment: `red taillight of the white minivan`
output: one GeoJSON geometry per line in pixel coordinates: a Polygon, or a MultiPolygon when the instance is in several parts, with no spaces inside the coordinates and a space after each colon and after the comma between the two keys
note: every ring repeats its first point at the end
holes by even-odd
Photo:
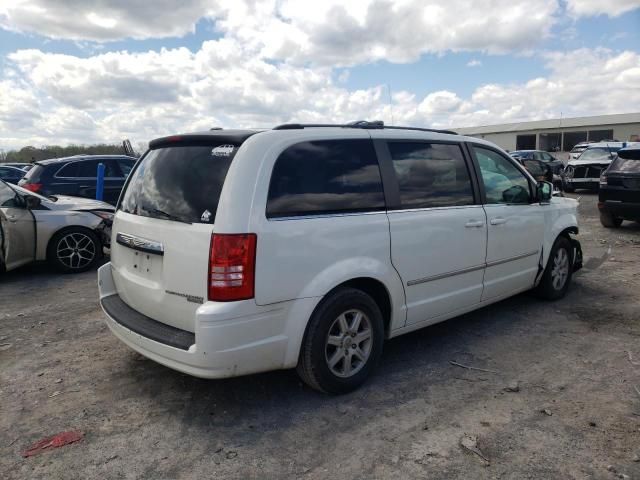
{"type": "Polygon", "coordinates": [[[233,302],[254,297],[256,243],[255,233],[211,236],[209,300],[233,302]]]}

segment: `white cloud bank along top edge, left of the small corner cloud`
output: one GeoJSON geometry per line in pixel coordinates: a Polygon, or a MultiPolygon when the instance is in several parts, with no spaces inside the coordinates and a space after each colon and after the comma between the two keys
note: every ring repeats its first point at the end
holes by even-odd
{"type": "Polygon", "coordinates": [[[261,58],[356,65],[424,53],[502,53],[550,35],[558,0],[4,0],[0,26],[107,42],[183,36],[200,19],[261,58]],[[478,14],[481,12],[481,14],[478,14]]]}

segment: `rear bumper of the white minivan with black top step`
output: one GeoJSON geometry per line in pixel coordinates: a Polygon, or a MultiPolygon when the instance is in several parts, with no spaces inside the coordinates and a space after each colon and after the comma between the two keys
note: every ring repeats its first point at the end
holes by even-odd
{"type": "Polygon", "coordinates": [[[195,332],[191,333],[157,322],[126,305],[116,291],[111,268],[107,263],[98,269],[106,323],[117,338],[145,357],[201,378],[295,366],[304,333],[304,325],[299,322],[308,318],[300,313],[312,310],[314,299],[262,307],[253,300],[205,302],[196,311],[195,332]]]}

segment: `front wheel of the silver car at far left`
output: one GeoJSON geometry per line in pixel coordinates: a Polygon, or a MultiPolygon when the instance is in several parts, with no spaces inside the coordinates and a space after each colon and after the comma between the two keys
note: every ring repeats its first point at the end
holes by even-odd
{"type": "Polygon", "coordinates": [[[86,272],[100,259],[102,244],[92,231],[81,227],[56,233],[47,248],[47,260],[63,273],[86,272]]]}

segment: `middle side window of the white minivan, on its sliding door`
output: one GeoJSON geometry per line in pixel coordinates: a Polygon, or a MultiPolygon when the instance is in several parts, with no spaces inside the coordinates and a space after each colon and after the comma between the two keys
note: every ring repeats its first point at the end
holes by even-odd
{"type": "Polygon", "coordinates": [[[471,205],[471,179],[459,145],[389,142],[402,208],[471,205]]]}

